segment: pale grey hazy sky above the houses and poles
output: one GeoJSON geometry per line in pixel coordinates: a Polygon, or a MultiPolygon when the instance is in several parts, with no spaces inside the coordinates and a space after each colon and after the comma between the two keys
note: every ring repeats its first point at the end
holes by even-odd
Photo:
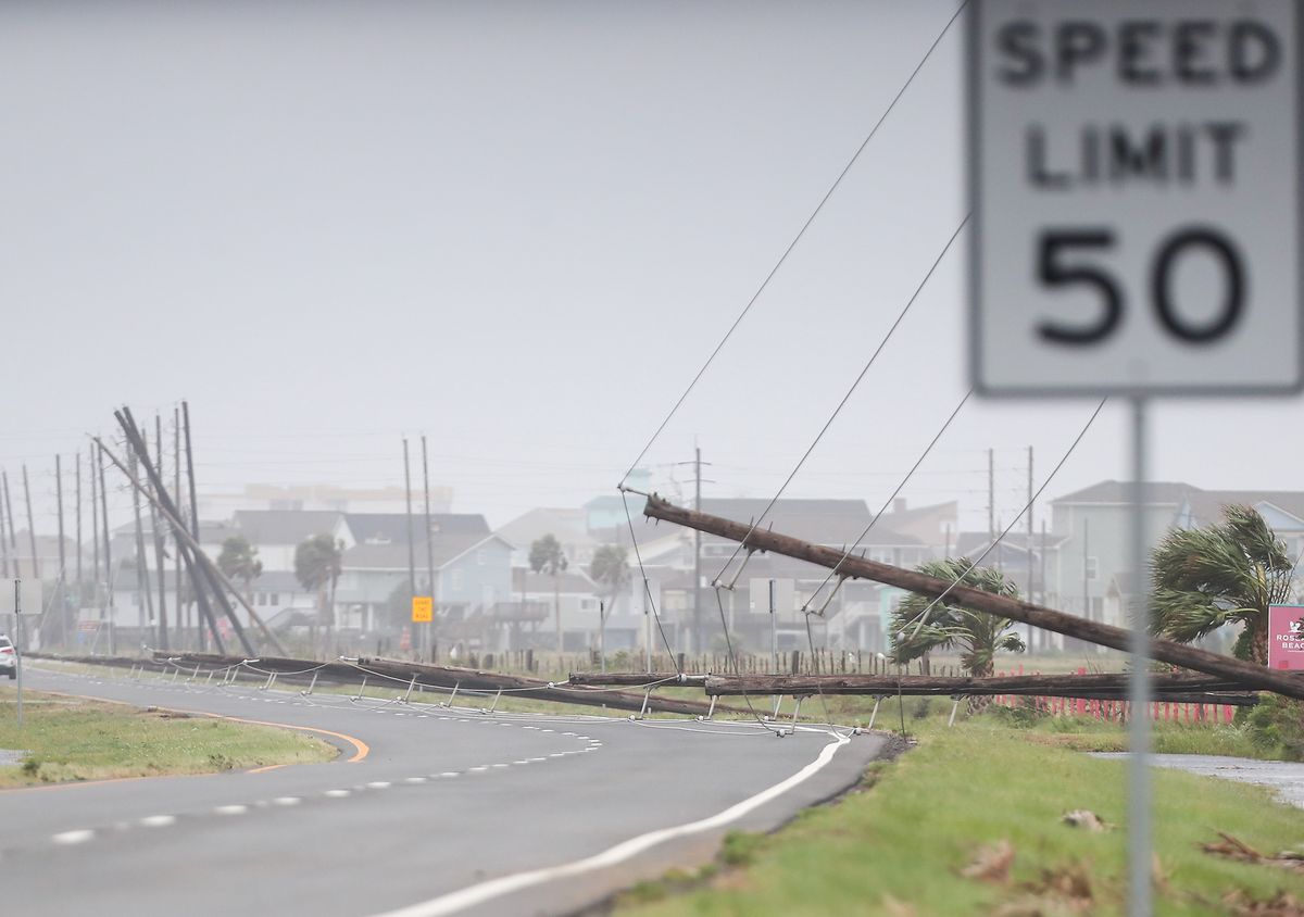
{"type": "MultiPolygon", "coordinates": [[[[496,524],[613,492],[956,5],[10,0],[0,466],[52,531],[55,451],[188,398],[201,488],[402,484],[425,432],[496,524]]],[[[960,26],[648,453],[660,488],[698,441],[708,494],[771,496],[958,226],[960,26]]],[[[965,277],[957,245],[790,494],[895,487],[968,387],[965,277]]],[[[1091,407],[973,402],[906,496],[985,526],[991,446],[1009,518],[1091,407]]],[[[1154,417],[1155,477],[1304,488],[1296,399],[1154,417]]],[[[1050,493],[1124,477],[1125,429],[1050,493]]]]}

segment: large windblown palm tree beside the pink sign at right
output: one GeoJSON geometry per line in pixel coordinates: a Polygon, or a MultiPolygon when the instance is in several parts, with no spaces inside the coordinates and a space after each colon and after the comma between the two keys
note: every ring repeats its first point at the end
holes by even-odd
{"type": "Polygon", "coordinates": [[[1224,506],[1222,523],[1171,530],[1150,554],[1150,630],[1191,643],[1241,624],[1234,655],[1267,665],[1267,607],[1291,600],[1294,574],[1262,515],[1224,506]]]}

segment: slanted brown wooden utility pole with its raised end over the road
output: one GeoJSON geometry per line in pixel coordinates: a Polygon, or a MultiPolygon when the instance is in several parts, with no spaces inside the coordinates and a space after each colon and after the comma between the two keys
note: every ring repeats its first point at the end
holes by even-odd
{"type": "MultiPolygon", "coordinates": [[[[1007,599],[992,592],[985,592],[970,586],[957,586],[915,570],[904,570],[889,564],[879,564],[878,561],[870,561],[833,548],[822,548],[810,541],[754,528],[708,513],[687,510],[674,506],[656,494],[648,496],[643,514],[651,519],[664,519],[685,528],[738,541],[747,552],[747,556],[751,556],[755,550],[782,554],[815,564],[816,566],[837,570],[840,575],[848,579],[872,579],[874,582],[896,586],[897,588],[918,592],[934,599],[947,594],[951,604],[1011,618],[1012,621],[1031,625],[1033,627],[1052,630],[1056,634],[1074,637],[1080,640],[1097,643],[1112,650],[1128,652],[1131,647],[1131,634],[1123,627],[1088,621],[1051,608],[1042,608],[1029,601],[1007,599]]],[[[1243,663],[1239,659],[1219,656],[1206,650],[1198,650],[1161,638],[1154,638],[1150,646],[1150,657],[1162,663],[1227,678],[1228,681],[1239,682],[1241,687],[1275,691],[1288,698],[1304,699],[1304,678],[1300,676],[1274,672],[1262,665],[1243,663]]]]}

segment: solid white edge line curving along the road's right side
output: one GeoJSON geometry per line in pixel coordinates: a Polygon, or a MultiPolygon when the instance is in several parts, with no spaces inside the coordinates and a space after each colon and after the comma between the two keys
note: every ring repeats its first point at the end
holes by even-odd
{"type": "Polygon", "coordinates": [[[396,910],[386,910],[374,914],[373,917],[443,917],[443,914],[452,914],[466,908],[484,904],[485,901],[501,895],[520,891],[522,888],[529,888],[531,886],[552,882],[553,879],[566,879],[596,869],[614,866],[638,856],[639,853],[643,853],[652,847],[656,847],[657,844],[675,837],[683,837],[686,835],[724,827],[725,824],[729,824],[730,822],[734,822],[752,810],[765,805],[771,800],[782,796],[823,770],[823,767],[833,759],[833,755],[837,754],[838,749],[852,741],[849,737],[840,733],[833,733],[833,741],[820,749],[819,757],[802,770],[797,771],[797,774],[792,775],[786,780],[776,783],[768,789],[763,789],[742,802],[729,806],[721,813],[711,815],[709,818],[703,818],[698,822],[689,822],[687,824],[679,824],[673,828],[649,831],[644,835],[639,835],[638,837],[621,841],[615,847],[610,847],[601,853],[585,857],[584,860],[575,860],[574,862],[563,864],[561,866],[549,866],[545,869],[529,870],[527,873],[503,875],[497,879],[489,879],[488,882],[462,888],[460,891],[441,895],[439,897],[432,897],[428,901],[412,904],[406,908],[398,908],[396,910]]]}

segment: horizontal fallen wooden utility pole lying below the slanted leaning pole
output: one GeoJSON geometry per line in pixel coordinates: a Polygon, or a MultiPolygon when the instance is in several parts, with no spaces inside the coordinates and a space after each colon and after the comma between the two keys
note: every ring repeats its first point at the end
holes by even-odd
{"type": "MultiPolygon", "coordinates": [[[[1081,698],[1084,700],[1127,700],[1127,673],[1088,676],[1008,676],[945,678],[938,676],[707,676],[707,697],[743,694],[816,694],[974,697],[1015,695],[1081,698]]],[[[1155,674],[1155,699],[1170,703],[1215,703],[1247,707],[1258,695],[1223,678],[1191,674],[1155,674]]]]}

